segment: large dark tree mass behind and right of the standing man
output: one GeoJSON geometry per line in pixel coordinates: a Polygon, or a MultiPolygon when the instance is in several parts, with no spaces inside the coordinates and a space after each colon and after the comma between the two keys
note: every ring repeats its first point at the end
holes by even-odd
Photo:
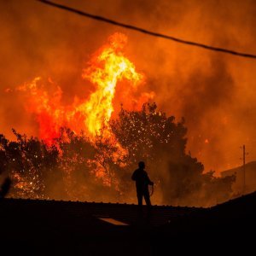
{"type": "MultiPolygon", "coordinates": [[[[185,152],[184,119],[175,123],[173,116],[157,110],[156,104],[144,104],[141,111],[121,109],[119,119],[111,123],[119,143],[127,149],[126,169],[145,160],[150,175],[158,183],[163,202],[172,205],[206,205],[230,197],[233,178],[203,174],[204,166],[185,152]],[[223,185],[220,185],[223,184],[223,185]],[[218,187],[218,195],[206,189],[218,187]],[[200,197],[199,197],[200,196],[200,197]],[[217,198],[218,197],[218,198],[217,198]]],[[[130,184],[123,182],[124,187],[130,184]]]]}

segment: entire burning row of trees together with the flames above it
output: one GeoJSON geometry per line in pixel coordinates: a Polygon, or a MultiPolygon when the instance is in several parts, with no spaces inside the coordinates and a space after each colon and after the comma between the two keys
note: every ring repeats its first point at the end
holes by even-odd
{"type": "Polygon", "coordinates": [[[125,35],[115,33],[92,55],[82,76],[95,87],[72,104],[63,104],[51,79],[16,89],[39,132],[27,137],[14,130],[15,141],[0,136],[0,168],[14,184],[10,196],[134,202],[131,172],[144,160],[156,183],[154,203],[209,206],[230,198],[234,177],[204,173],[186,153],[184,120],[161,112],[154,91],[138,90],[144,75],[125,57],[125,44],[125,35]]]}

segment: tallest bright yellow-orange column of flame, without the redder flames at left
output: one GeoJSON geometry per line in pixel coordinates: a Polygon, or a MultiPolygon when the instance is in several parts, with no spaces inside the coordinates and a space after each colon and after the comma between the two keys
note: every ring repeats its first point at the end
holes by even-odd
{"type": "Polygon", "coordinates": [[[135,71],[131,61],[123,55],[125,43],[125,35],[114,34],[109,38],[109,44],[103,46],[99,54],[93,57],[90,67],[84,70],[83,77],[97,86],[96,92],[90,95],[90,100],[79,107],[86,113],[85,124],[92,136],[101,131],[102,125],[108,128],[117,82],[127,79],[134,86],[143,79],[135,71]]]}

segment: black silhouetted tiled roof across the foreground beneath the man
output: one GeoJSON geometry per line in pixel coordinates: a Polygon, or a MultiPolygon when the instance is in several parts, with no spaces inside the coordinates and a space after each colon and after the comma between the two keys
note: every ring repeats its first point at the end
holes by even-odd
{"type": "Polygon", "coordinates": [[[135,205],[3,199],[0,250],[10,255],[246,253],[254,250],[255,213],[255,192],[212,208],[154,206],[148,213],[144,207],[143,218],[135,205]]]}

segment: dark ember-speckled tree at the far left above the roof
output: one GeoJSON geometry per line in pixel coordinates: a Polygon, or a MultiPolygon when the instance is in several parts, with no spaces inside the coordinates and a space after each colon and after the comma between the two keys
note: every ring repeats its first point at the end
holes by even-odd
{"type": "Polygon", "coordinates": [[[37,138],[27,138],[13,130],[16,141],[0,140],[3,171],[9,173],[13,186],[11,195],[25,198],[47,197],[45,179],[54,179],[57,172],[58,150],[37,138]]]}

